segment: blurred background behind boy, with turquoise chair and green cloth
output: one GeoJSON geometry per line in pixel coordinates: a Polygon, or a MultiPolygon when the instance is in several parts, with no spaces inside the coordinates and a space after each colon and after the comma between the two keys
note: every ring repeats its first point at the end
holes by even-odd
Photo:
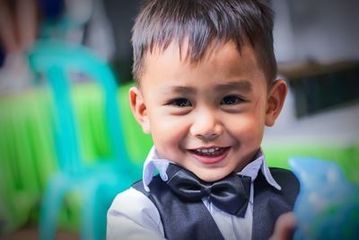
{"type": "MultiPolygon", "coordinates": [[[[111,200],[141,178],[152,140],[127,100],[141,2],[0,0],[0,239],[104,239],[111,200]]],[[[267,161],[328,159],[359,185],[359,3],[272,5],[290,91],[267,161]]]]}

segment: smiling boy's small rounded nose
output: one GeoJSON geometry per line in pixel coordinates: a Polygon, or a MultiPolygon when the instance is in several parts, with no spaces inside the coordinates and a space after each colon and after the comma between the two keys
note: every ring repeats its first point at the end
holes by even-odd
{"type": "Polygon", "coordinates": [[[212,141],[223,133],[222,122],[214,111],[198,111],[194,118],[190,133],[204,141],[212,141]]]}

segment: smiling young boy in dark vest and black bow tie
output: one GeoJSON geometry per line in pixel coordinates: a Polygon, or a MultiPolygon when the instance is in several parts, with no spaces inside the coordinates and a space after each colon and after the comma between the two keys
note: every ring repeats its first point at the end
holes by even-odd
{"type": "Polygon", "coordinates": [[[145,2],[133,29],[137,85],[129,98],[154,147],[143,181],[112,203],[108,239],[288,233],[293,217],[276,231],[275,223],[293,209],[299,183],[269,170],[260,148],[287,91],[275,81],[272,29],[265,1],[145,2]]]}

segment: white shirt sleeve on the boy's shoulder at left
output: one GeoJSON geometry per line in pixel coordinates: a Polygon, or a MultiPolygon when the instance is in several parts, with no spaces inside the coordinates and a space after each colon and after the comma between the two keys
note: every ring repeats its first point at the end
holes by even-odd
{"type": "Polygon", "coordinates": [[[107,213],[107,240],[163,240],[160,214],[153,202],[133,188],[113,200],[107,213]]]}

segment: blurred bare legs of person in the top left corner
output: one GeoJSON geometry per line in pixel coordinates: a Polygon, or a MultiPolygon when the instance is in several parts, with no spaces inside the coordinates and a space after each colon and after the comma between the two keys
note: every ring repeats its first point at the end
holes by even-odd
{"type": "Polygon", "coordinates": [[[37,0],[0,0],[0,93],[19,89],[28,83],[29,71],[24,52],[37,35],[37,0]]]}

